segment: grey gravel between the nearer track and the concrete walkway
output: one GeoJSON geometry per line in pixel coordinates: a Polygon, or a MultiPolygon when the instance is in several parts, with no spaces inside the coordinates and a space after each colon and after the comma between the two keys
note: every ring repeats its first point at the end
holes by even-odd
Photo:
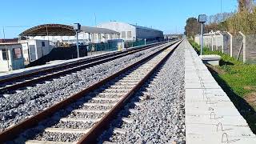
{"type": "Polygon", "coordinates": [[[98,138],[99,143],[185,143],[183,44],[151,78],[150,84],[134,94],[134,100],[127,104],[120,118],[112,122],[110,129],[98,138]],[[138,97],[145,99],[138,100],[138,97]],[[134,106],[134,101],[140,101],[141,105],[134,106]],[[128,114],[131,107],[138,110],[138,114],[128,114]],[[133,122],[121,122],[122,117],[130,118],[133,122]],[[126,134],[113,132],[114,127],[126,130],[126,134]]]}

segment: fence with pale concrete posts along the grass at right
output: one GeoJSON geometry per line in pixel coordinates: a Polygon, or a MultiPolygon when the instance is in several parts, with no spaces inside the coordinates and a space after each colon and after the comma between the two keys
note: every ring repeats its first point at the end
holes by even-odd
{"type": "MultiPolygon", "coordinates": [[[[196,35],[195,42],[200,44],[200,36],[196,35]]],[[[210,50],[218,50],[229,54],[244,63],[256,63],[256,35],[245,35],[242,32],[230,34],[228,32],[210,32],[204,34],[204,46],[210,50]]]]}

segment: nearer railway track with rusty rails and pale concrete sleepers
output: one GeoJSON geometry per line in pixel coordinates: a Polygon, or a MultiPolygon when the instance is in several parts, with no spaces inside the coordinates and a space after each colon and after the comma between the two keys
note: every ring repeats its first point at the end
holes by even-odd
{"type": "MultiPolygon", "coordinates": [[[[2,142],[94,143],[114,115],[180,44],[175,42],[0,133],[2,142]],[[26,131],[25,131],[26,130],[26,131]],[[24,132],[25,131],[25,132],[24,132]]],[[[124,121],[129,121],[128,119],[124,121]]]]}

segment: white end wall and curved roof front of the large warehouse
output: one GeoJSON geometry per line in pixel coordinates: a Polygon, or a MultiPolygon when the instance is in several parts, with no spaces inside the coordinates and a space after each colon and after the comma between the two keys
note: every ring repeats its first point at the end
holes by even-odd
{"type": "Polygon", "coordinates": [[[117,31],[120,33],[120,38],[125,41],[134,41],[136,39],[136,28],[125,22],[106,22],[97,27],[117,31]]]}

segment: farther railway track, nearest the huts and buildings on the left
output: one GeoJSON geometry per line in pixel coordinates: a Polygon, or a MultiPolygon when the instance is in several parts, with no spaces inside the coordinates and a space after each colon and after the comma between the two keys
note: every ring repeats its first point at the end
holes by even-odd
{"type": "Polygon", "coordinates": [[[148,46],[139,46],[137,48],[116,52],[114,54],[103,54],[93,58],[79,60],[78,62],[70,62],[65,65],[34,71],[29,74],[22,74],[11,78],[2,78],[0,79],[0,94],[8,96],[8,94],[14,94],[19,90],[24,89],[26,86],[34,86],[40,82],[46,82],[47,80],[51,80],[53,78],[59,78],[66,74],[86,69],[90,66],[96,66],[103,62],[109,62],[111,60],[121,58],[129,54],[134,54],[154,46],[160,46],[165,43],[166,42],[159,42],[148,46]]]}

